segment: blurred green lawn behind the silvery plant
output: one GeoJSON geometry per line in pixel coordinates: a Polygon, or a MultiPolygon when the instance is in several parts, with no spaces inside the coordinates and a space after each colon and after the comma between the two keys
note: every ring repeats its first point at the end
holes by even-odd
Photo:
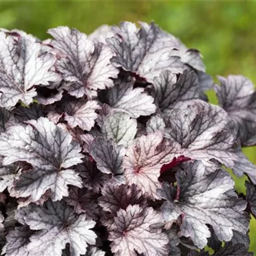
{"type": "MultiPolygon", "coordinates": [[[[3,1],[0,27],[22,29],[44,39],[47,29],[59,25],[90,33],[103,23],[121,20],[150,22],[179,37],[204,55],[212,76],[243,74],[256,85],[255,1],[3,1]]],[[[216,97],[209,92],[211,102],[216,97]]],[[[244,152],[256,164],[255,148],[244,152]]],[[[244,192],[244,178],[236,178],[244,192]]],[[[256,255],[256,221],[251,221],[251,250],[256,255]]]]}

